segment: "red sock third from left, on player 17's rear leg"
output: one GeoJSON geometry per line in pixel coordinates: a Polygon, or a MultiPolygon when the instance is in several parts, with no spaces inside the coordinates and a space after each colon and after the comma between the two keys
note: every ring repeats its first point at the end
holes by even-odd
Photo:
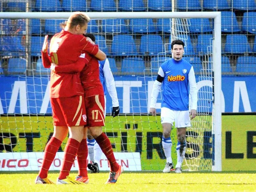
{"type": "Polygon", "coordinates": [[[78,176],[88,177],[87,175],[87,160],[88,148],[86,139],[83,139],[77,151],[76,159],[78,163],[78,176]]]}

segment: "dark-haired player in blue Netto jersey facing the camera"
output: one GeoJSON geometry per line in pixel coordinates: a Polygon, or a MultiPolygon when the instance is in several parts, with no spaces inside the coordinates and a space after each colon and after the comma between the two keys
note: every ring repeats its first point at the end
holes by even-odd
{"type": "Polygon", "coordinates": [[[175,173],[181,173],[181,164],[186,151],[186,127],[190,127],[190,119],[196,117],[197,87],[193,66],[182,59],[184,42],[174,40],[171,48],[172,59],[162,63],[158,70],[151,94],[149,113],[156,116],[156,100],[163,87],[161,124],[163,127],[162,145],[166,156],[163,172],[167,173],[173,169],[171,130],[175,122],[178,139],[175,173]]]}

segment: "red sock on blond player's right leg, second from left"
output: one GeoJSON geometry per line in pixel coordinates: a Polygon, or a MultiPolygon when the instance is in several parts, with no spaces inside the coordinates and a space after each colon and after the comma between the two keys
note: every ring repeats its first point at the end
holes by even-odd
{"type": "Polygon", "coordinates": [[[68,138],[68,142],[66,144],[65,147],[65,153],[64,153],[64,157],[63,157],[63,164],[60,170],[60,175],[59,175],[59,179],[66,179],[67,176],[69,175],[70,169],[76,159],[76,153],[77,150],[79,148],[80,142],[72,139],[72,138],[68,138]]]}

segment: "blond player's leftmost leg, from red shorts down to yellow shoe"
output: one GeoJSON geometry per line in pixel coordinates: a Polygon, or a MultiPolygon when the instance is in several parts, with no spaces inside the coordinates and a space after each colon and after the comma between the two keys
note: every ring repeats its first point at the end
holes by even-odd
{"type": "Polygon", "coordinates": [[[66,126],[65,118],[62,115],[58,98],[51,98],[51,105],[52,105],[54,132],[51,139],[48,141],[48,143],[45,146],[43,162],[42,162],[42,166],[40,168],[39,174],[35,181],[36,184],[52,183],[52,181],[47,178],[48,170],[50,169],[52,161],[54,160],[62,141],[66,138],[68,133],[68,127],[66,126]]]}

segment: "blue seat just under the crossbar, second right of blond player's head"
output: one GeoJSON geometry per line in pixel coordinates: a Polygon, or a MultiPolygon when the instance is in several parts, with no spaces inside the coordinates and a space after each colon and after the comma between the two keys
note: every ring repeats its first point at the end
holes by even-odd
{"type": "Polygon", "coordinates": [[[106,19],[102,20],[102,32],[128,33],[128,27],[124,19],[106,19]]]}

